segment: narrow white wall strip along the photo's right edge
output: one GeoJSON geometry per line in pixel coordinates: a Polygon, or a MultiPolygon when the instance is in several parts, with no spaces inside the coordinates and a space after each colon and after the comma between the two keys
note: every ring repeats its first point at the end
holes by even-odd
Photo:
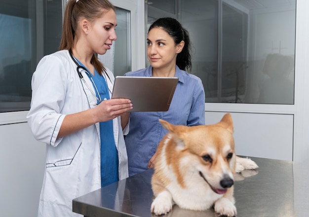
{"type": "Polygon", "coordinates": [[[297,0],[293,159],[309,160],[309,1],[297,0]]]}

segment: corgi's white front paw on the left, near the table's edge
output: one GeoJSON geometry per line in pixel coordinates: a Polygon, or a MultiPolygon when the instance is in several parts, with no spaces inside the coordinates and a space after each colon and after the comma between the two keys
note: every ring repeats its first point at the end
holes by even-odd
{"type": "Polygon", "coordinates": [[[172,209],[172,196],[168,191],[159,193],[151,204],[151,212],[155,215],[167,214],[172,209]]]}

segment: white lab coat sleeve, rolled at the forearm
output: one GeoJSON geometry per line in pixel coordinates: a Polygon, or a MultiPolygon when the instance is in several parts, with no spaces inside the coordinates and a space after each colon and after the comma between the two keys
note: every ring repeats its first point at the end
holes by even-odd
{"type": "Polygon", "coordinates": [[[32,100],[27,120],[34,137],[45,144],[57,146],[65,114],[60,111],[67,91],[67,73],[57,56],[45,56],[32,77],[32,100]]]}

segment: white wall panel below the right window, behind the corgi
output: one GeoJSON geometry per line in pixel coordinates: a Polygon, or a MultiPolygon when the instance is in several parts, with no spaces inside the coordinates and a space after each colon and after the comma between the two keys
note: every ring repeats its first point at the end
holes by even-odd
{"type": "MultiPolygon", "coordinates": [[[[206,124],[219,122],[225,113],[205,112],[206,124]]],[[[230,113],[237,155],[292,160],[294,115],[230,113]]]]}

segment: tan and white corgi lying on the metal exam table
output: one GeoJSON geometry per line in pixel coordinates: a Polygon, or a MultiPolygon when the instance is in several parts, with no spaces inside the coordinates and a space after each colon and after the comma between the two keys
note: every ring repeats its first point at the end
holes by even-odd
{"type": "Polygon", "coordinates": [[[173,204],[196,211],[214,205],[219,215],[236,216],[233,176],[258,166],[236,156],[231,114],[213,125],[188,127],[159,121],[168,133],[156,151],[151,212],[167,214],[173,204]]]}

